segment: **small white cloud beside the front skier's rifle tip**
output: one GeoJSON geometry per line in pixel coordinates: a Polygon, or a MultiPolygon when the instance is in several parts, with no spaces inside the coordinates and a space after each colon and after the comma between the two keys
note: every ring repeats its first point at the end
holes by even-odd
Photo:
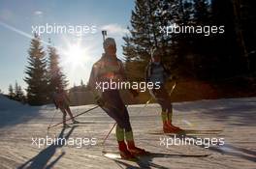
{"type": "Polygon", "coordinates": [[[101,29],[107,30],[108,34],[112,34],[114,36],[124,36],[125,34],[129,34],[129,30],[127,28],[123,28],[121,25],[116,23],[103,25],[101,29]]]}

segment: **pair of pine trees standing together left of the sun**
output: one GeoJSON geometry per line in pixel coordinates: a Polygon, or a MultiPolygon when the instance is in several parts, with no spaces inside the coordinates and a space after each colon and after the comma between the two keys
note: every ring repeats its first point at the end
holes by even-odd
{"type": "Polygon", "coordinates": [[[30,42],[28,66],[24,81],[27,83],[26,100],[30,105],[43,105],[52,102],[56,88],[65,88],[66,76],[59,67],[57,49],[48,42],[47,50],[38,35],[30,42]]]}

